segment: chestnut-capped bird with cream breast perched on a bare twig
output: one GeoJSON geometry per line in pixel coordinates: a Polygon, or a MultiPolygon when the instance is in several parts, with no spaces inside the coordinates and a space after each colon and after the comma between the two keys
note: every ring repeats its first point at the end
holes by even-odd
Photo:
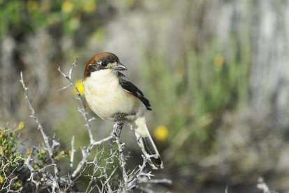
{"type": "Polygon", "coordinates": [[[149,134],[144,113],[151,110],[149,100],[120,71],[127,71],[111,52],[96,53],[83,74],[84,97],[91,110],[103,120],[127,122],[134,131],[142,154],[152,169],[163,169],[163,161],[149,134]]]}

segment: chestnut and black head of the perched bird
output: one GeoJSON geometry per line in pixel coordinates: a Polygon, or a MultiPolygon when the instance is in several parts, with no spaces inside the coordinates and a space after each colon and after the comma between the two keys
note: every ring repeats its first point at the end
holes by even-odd
{"type": "Polygon", "coordinates": [[[112,69],[114,71],[126,71],[126,66],[119,62],[119,58],[117,55],[114,55],[110,52],[101,52],[97,53],[89,62],[87,62],[87,66],[85,66],[83,78],[87,78],[91,76],[91,73],[94,71],[101,71],[105,69],[112,69]]]}

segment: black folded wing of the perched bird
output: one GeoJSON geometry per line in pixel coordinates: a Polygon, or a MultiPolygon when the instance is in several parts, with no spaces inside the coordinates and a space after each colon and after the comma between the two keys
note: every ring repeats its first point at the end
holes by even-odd
{"type": "Polygon", "coordinates": [[[124,76],[124,74],[117,72],[117,76],[121,87],[127,92],[133,94],[133,96],[138,97],[138,99],[140,99],[140,101],[142,101],[142,103],[144,103],[144,105],[147,107],[147,110],[151,110],[151,108],[149,108],[151,106],[149,100],[144,97],[144,94],[138,89],[138,87],[133,85],[133,83],[131,83],[128,78],[124,76]]]}

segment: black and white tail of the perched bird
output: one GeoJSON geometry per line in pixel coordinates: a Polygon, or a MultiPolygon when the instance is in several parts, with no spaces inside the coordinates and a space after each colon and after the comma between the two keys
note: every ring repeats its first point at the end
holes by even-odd
{"type": "Polygon", "coordinates": [[[145,117],[138,117],[135,121],[130,122],[130,125],[135,133],[138,145],[140,146],[142,153],[147,157],[147,161],[151,168],[163,169],[163,161],[149,134],[147,124],[145,123],[145,117]]]}

